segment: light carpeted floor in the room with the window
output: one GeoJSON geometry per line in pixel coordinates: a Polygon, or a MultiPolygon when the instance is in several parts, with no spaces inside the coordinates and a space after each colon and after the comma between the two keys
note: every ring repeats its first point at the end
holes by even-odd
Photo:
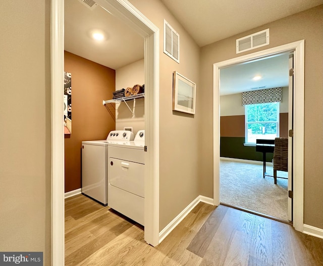
{"type": "MultiPolygon", "coordinates": [[[[266,172],[273,175],[273,167],[266,172]]],[[[287,172],[277,172],[279,177],[287,177],[287,172]]],[[[220,201],[246,208],[261,214],[288,220],[287,179],[262,177],[262,165],[220,161],[220,201]]]]}

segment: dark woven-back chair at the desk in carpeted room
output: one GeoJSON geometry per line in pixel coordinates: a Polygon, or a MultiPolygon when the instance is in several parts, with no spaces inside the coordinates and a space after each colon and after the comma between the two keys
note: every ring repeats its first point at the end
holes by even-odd
{"type": "Polygon", "coordinates": [[[277,171],[288,171],[288,138],[275,138],[274,183],[277,184],[277,171]]]}

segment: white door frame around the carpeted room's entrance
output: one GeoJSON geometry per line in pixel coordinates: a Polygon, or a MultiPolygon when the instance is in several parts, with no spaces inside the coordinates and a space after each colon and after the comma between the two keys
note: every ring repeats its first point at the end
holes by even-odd
{"type": "Polygon", "coordinates": [[[281,52],[294,51],[293,226],[301,232],[304,225],[304,43],[304,40],[300,40],[213,64],[213,204],[218,206],[220,204],[220,69],[281,52]]]}

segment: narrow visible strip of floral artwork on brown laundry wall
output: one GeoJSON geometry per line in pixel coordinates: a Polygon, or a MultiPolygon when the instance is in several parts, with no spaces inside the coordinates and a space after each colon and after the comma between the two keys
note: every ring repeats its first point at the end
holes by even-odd
{"type": "Polygon", "coordinates": [[[72,134],[72,74],[64,73],[64,134],[72,134]]]}

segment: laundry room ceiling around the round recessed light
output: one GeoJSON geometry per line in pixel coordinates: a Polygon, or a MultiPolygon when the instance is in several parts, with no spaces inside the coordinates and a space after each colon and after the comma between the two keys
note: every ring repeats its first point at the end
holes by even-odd
{"type": "Polygon", "coordinates": [[[65,0],[64,8],[65,50],[112,69],[143,59],[143,38],[100,6],[91,10],[79,0],[65,0]],[[94,30],[105,39],[92,39],[94,30]]]}

